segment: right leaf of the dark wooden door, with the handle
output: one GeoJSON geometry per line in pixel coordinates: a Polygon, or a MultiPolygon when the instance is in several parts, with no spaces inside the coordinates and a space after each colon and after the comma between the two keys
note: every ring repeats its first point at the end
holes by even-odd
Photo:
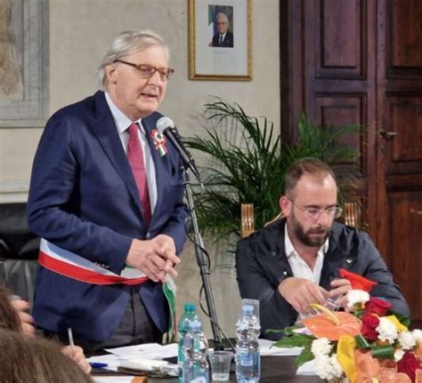
{"type": "Polygon", "coordinates": [[[378,0],[377,245],[422,325],[422,2],[378,0]]]}

